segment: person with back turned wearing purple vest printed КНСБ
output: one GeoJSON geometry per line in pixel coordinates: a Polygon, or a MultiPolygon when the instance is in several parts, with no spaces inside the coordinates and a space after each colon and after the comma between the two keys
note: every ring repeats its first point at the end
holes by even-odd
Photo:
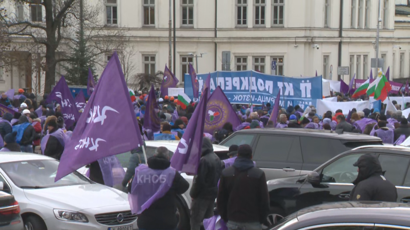
{"type": "Polygon", "coordinates": [[[139,214],[140,230],[177,228],[177,195],[186,192],[189,183],[170,164],[168,149],[158,147],[148,166],[135,169],[128,200],[131,212],[139,214]]]}

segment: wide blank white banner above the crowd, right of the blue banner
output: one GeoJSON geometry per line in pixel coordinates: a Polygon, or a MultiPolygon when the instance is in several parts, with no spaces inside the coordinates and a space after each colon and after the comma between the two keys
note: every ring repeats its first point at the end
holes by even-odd
{"type": "Polygon", "coordinates": [[[363,111],[365,108],[370,108],[370,102],[332,102],[317,100],[316,104],[316,112],[320,116],[323,116],[323,114],[327,111],[332,111],[332,113],[335,114],[338,109],[342,109],[343,114],[347,116],[349,114],[349,110],[352,108],[356,108],[357,111],[363,111]]]}

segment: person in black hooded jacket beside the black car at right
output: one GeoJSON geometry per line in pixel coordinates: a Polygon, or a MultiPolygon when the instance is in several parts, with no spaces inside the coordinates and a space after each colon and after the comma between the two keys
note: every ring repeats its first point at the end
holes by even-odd
{"type": "Polygon", "coordinates": [[[359,174],[352,182],[355,186],[350,192],[350,200],[397,201],[396,187],[383,176],[382,166],[375,155],[362,155],[353,166],[359,168],[359,174]]]}

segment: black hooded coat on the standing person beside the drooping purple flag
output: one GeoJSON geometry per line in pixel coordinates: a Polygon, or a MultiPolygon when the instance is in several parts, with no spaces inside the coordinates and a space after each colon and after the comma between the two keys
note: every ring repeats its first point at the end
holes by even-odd
{"type": "Polygon", "coordinates": [[[202,140],[198,175],[194,177],[189,195],[194,199],[214,200],[218,194],[218,180],[222,172],[221,160],[213,152],[211,140],[208,138],[202,140]]]}

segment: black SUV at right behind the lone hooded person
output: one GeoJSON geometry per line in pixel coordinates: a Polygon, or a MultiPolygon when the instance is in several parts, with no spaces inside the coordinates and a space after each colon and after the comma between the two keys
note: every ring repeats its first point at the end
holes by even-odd
{"type": "Polygon", "coordinates": [[[410,203],[410,148],[363,146],[328,160],[308,175],[267,182],[270,197],[268,220],[273,224],[303,208],[329,202],[349,201],[357,177],[353,163],[363,154],[378,157],[385,177],[397,188],[397,202],[410,203]]]}

